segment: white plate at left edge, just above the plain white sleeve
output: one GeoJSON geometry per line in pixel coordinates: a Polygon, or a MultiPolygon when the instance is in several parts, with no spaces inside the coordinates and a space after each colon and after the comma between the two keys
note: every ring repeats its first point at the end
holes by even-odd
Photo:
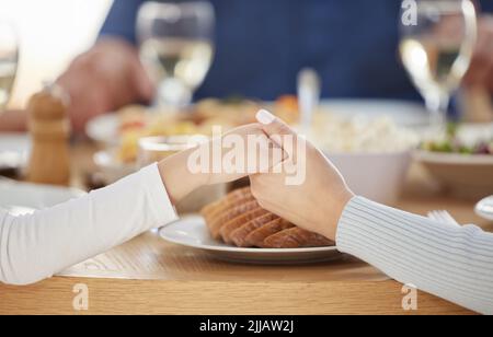
{"type": "Polygon", "coordinates": [[[34,185],[0,179],[0,207],[15,214],[51,207],[84,195],[74,188],[34,185]]]}

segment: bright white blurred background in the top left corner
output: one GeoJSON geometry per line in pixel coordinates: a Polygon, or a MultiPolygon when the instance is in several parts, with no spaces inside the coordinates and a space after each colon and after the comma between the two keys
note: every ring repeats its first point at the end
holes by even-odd
{"type": "Polygon", "coordinates": [[[53,81],[94,43],[112,0],[0,0],[0,20],[12,22],[21,54],[11,108],[53,81]]]}

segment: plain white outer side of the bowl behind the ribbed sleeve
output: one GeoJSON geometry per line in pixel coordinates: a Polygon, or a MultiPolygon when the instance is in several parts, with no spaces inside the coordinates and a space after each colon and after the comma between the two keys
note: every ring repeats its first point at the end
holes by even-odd
{"type": "Polygon", "coordinates": [[[411,151],[395,153],[326,154],[358,196],[394,205],[411,165],[411,151]]]}

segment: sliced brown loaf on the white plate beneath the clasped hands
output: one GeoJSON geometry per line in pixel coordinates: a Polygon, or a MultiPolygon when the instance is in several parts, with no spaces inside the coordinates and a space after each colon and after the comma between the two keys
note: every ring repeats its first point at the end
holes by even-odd
{"type": "Polygon", "coordinates": [[[334,245],[324,236],[300,229],[260,207],[250,187],[237,189],[206,206],[202,214],[215,240],[238,247],[303,248],[334,245]]]}

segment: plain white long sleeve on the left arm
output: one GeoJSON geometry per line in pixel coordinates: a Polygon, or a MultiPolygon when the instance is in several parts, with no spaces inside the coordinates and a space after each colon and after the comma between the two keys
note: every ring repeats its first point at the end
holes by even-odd
{"type": "Polygon", "coordinates": [[[34,283],[176,219],[157,165],[30,216],[0,211],[0,282],[34,283]]]}

